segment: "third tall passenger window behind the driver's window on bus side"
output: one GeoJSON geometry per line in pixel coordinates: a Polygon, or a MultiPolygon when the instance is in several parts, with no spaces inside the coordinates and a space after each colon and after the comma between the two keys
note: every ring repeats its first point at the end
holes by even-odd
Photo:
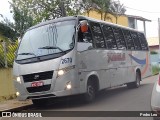
{"type": "Polygon", "coordinates": [[[126,42],[120,28],[113,27],[118,49],[126,49],[126,42]]]}

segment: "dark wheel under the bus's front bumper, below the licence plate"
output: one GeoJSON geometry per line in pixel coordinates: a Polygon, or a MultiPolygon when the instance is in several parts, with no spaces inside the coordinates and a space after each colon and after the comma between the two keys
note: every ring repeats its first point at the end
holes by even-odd
{"type": "Polygon", "coordinates": [[[35,100],[32,100],[32,103],[34,106],[43,107],[48,103],[47,101],[48,99],[35,99],[35,100]]]}

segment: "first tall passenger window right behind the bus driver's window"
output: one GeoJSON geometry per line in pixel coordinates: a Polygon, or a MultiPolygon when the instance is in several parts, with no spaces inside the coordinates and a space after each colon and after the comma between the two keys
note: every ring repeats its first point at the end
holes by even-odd
{"type": "Polygon", "coordinates": [[[98,23],[90,23],[93,34],[93,40],[96,48],[105,48],[104,38],[101,31],[101,27],[98,23]]]}

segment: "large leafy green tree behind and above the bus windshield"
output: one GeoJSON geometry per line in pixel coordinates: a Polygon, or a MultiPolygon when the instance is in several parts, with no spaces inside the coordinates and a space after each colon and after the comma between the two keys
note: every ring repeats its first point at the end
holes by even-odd
{"type": "Polygon", "coordinates": [[[42,21],[75,15],[73,0],[12,0],[14,29],[22,36],[26,29],[42,21]]]}

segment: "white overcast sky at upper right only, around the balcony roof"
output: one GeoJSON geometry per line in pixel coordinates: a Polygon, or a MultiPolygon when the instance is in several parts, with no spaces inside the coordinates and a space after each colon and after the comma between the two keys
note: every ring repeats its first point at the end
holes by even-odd
{"type": "MultiPolygon", "coordinates": [[[[146,22],[147,37],[158,36],[158,17],[160,17],[160,0],[120,1],[124,4],[124,6],[128,7],[126,14],[138,15],[152,20],[152,22],[146,22]]],[[[141,22],[139,22],[138,27],[139,30],[143,30],[143,24],[141,22]]]]}

